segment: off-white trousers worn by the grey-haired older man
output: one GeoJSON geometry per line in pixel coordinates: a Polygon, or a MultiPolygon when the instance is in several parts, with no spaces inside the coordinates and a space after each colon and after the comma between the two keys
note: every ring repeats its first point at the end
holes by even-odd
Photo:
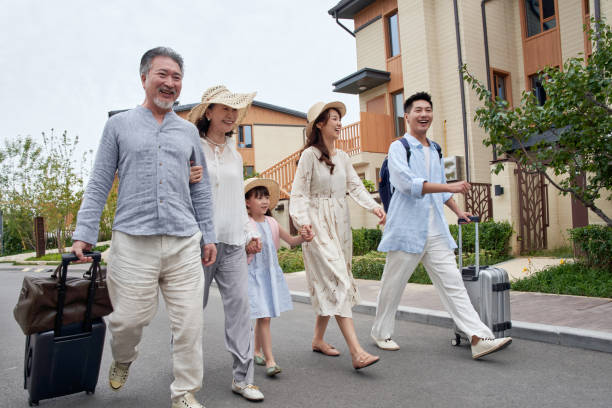
{"type": "Polygon", "coordinates": [[[202,387],[201,235],[134,236],[113,231],[107,275],[113,304],[108,317],[113,359],[119,363],[136,359],[142,329],[157,312],[161,290],[174,338],[171,398],[202,387]]]}

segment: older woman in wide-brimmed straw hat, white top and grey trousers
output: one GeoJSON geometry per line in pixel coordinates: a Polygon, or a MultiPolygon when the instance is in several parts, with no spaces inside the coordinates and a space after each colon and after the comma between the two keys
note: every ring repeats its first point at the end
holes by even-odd
{"type": "MultiPolygon", "coordinates": [[[[200,131],[213,192],[217,260],[204,267],[204,307],[212,280],[217,281],[225,312],[225,344],[234,358],[232,391],[252,401],[264,398],[253,385],[253,328],[250,320],[249,253],[259,252],[259,233],[249,222],[244,205],[242,157],[231,135],[253,101],[255,93],[234,94],[225,86],[207,89],[202,102],[188,119],[200,131]]],[[[201,178],[203,169],[192,167],[190,182],[201,178]]]]}

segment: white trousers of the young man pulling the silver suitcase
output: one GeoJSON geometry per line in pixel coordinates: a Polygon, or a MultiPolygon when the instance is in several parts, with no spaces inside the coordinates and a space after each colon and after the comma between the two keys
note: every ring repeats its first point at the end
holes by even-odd
{"type": "Polygon", "coordinates": [[[390,251],[376,301],[376,319],[372,336],[388,339],[395,328],[395,313],[399,306],[406,283],[419,262],[423,263],[429,278],[438,290],[442,304],[450,313],[455,324],[463,333],[481,338],[493,338],[489,328],[480,320],[474,310],[463,279],[457,268],[455,254],[449,248],[444,235],[428,237],[424,251],[413,254],[404,251],[390,251]]]}

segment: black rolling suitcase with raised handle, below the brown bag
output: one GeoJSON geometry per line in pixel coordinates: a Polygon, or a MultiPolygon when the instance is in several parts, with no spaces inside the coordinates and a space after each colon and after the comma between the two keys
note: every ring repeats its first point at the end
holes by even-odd
{"type": "MultiPolygon", "coordinates": [[[[100,262],[99,252],[87,255],[93,257],[94,263],[100,262]]],[[[30,406],[38,405],[42,399],[81,391],[93,394],[96,389],[106,333],[104,321],[101,318],[92,321],[90,317],[97,268],[91,268],[92,285],[84,320],[62,326],[68,264],[76,259],[74,254],[62,256],[55,329],[26,338],[24,388],[30,394],[30,406]]]]}

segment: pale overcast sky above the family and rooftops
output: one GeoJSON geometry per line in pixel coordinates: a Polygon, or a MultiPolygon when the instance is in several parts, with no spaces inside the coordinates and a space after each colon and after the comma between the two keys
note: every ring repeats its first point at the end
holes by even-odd
{"type": "MultiPolygon", "coordinates": [[[[355,40],[327,14],[338,0],[0,0],[0,139],[54,128],[97,149],[108,111],[142,103],[142,54],[165,45],[185,60],[179,101],[209,86],[306,112],[356,95],[332,82],[356,70],[355,40]]],[[[342,20],[352,29],[352,21],[342,20]]]]}

